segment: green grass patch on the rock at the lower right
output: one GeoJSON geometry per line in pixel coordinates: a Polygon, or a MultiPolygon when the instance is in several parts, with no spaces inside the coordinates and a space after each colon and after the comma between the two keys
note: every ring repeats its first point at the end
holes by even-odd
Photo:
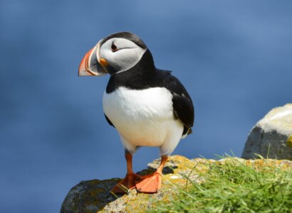
{"type": "Polygon", "coordinates": [[[163,200],[151,212],[292,212],[292,169],[265,159],[246,165],[237,158],[195,167],[204,181],[188,180],[177,187],[170,203],[163,200]],[[261,163],[262,162],[262,163],[261,163]]]}

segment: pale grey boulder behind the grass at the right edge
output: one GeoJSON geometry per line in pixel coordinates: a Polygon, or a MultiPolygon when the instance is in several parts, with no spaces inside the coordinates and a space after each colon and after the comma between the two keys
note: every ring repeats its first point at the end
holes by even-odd
{"type": "Polygon", "coordinates": [[[261,119],[247,138],[242,158],[292,159],[292,104],[276,107],[261,119]]]}

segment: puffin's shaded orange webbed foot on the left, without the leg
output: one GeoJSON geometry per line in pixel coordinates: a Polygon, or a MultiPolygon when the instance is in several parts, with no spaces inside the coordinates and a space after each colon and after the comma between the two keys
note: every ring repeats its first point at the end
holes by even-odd
{"type": "Polygon", "coordinates": [[[113,187],[113,190],[110,190],[110,192],[118,194],[128,194],[130,193],[130,190],[134,189],[136,187],[135,180],[140,178],[140,175],[137,175],[135,173],[132,173],[130,175],[126,175],[124,179],[122,179],[120,182],[118,182],[115,187],[113,187]]]}

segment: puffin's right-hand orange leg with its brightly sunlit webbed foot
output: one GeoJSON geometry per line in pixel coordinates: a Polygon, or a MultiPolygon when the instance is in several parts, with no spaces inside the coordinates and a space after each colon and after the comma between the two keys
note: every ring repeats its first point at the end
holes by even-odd
{"type": "Polygon", "coordinates": [[[162,169],[165,166],[167,159],[167,155],[163,155],[161,157],[160,166],[157,168],[155,173],[142,176],[140,177],[140,180],[136,180],[136,187],[138,192],[156,193],[158,190],[160,190],[162,169]]]}

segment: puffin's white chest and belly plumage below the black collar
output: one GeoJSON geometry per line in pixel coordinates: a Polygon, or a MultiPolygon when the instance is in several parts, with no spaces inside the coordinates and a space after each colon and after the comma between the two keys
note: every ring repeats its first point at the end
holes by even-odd
{"type": "Polygon", "coordinates": [[[120,135],[135,146],[161,146],[177,123],[172,94],[162,87],[104,92],[103,111],[120,135]]]}

